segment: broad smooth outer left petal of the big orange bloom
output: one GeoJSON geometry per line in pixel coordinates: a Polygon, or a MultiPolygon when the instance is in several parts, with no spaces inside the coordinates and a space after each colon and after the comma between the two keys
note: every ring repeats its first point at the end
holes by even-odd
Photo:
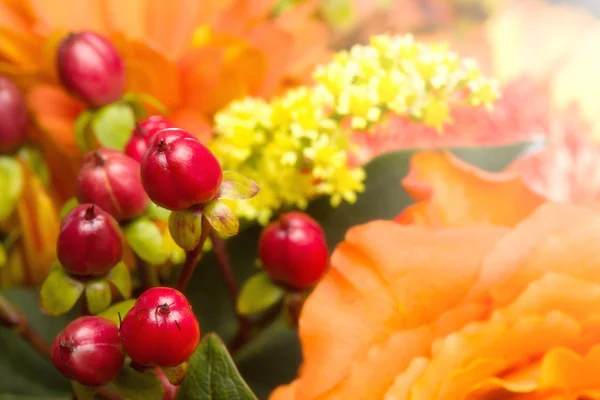
{"type": "Polygon", "coordinates": [[[426,354],[431,335],[480,316],[477,307],[459,304],[483,256],[505,232],[432,232],[384,221],[351,229],[300,319],[304,365],[297,397],[383,395],[413,357],[426,354]],[[452,323],[438,321],[454,307],[452,323]],[[439,326],[426,327],[434,323],[439,326]],[[374,367],[377,360],[385,363],[374,367]],[[380,374],[361,380],[365,370],[380,374]]]}

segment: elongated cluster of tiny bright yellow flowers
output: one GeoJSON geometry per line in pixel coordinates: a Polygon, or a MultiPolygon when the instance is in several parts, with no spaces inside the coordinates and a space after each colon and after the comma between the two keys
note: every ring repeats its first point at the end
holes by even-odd
{"type": "Polygon", "coordinates": [[[354,202],[365,173],[348,166],[351,129],[368,129],[389,112],[441,127],[453,104],[489,105],[498,97],[475,63],[411,36],[377,36],[337,53],[314,79],[312,87],[271,102],[235,101],[216,115],[211,149],[224,169],[261,188],[230,204],[238,216],[265,224],[273,212],[305,208],[321,195],[334,206],[354,202]]]}

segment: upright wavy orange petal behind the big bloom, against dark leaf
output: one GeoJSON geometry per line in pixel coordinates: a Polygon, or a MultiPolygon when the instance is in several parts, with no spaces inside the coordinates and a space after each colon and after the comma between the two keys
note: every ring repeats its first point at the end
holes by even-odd
{"type": "Polygon", "coordinates": [[[516,173],[486,172],[442,151],[413,156],[402,184],[417,203],[396,218],[400,223],[512,226],[543,202],[516,173]]]}

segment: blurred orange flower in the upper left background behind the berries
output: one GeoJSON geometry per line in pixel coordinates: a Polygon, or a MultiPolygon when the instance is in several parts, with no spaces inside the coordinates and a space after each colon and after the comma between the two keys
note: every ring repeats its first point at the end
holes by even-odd
{"type": "Polygon", "coordinates": [[[61,37],[83,29],[109,35],[127,65],[127,90],[154,96],[171,110],[175,124],[206,141],[220,107],[306,83],[328,55],[325,25],[312,18],[316,1],[271,17],[274,5],[275,0],[0,0],[0,73],[28,91],[61,197],[73,193],[81,161],[73,122],[82,109],[57,85],[61,37]]]}

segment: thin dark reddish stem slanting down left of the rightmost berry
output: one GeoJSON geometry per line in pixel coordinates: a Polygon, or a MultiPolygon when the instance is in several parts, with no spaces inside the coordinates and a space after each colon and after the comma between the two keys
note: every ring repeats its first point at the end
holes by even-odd
{"type": "MultiPolygon", "coordinates": [[[[219,265],[219,270],[221,271],[223,279],[225,280],[227,292],[229,293],[229,298],[235,310],[237,308],[236,305],[237,298],[239,295],[239,288],[235,279],[235,275],[233,274],[233,268],[231,268],[231,262],[229,261],[227,245],[225,244],[225,241],[221,237],[219,237],[219,235],[212,229],[210,232],[210,240],[213,243],[215,256],[217,258],[217,264],[219,265]]],[[[250,337],[250,332],[252,330],[252,322],[250,321],[250,319],[237,312],[235,313],[235,315],[238,320],[239,326],[236,337],[232,342],[232,346],[237,347],[245,343],[250,337]]]]}

